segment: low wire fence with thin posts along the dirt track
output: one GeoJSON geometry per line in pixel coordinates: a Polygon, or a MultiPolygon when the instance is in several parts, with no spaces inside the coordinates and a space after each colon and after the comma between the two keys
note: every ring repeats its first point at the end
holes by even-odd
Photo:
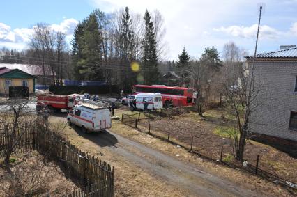
{"type": "MultiPolygon", "coordinates": [[[[180,109],[178,109],[180,110],[180,109]]],[[[172,114],[170,112],[170,114],[172,114]]],[[[205,143],[210,139],[209,136],[204,135],[206,131],[203,131],[200,127],[196,127],[195,131],[184,132],[181,127],[176,127],[176,125],[162,125],[151,121],[150,118],[139,119],[138,116],[129,116],[127,118],[125,114],[122,116],[122,123],[129,125],[130,127],[136,128],[140,132],[144,132],[151,136],[154,136],[163,141],[167,141],[174,145],[178,145],[181,148],[185,148],[190,152],[199,155],[199,157],[208,159],[214,162],[220,162],[224,165],[230,166],[232,168],[242,168],[245,171],[259,175],[261,178],[265,178],[271,182],[282,184],[287,189],[297,189],[297,184],[290,180],[285,180],[273,171],[267,171],[269,166],[261,163],[261,158],[259,155],[254,155],[254,159],[243,163],[236,161],[236,159],[231,159],[234,155],[232,152],[231,145],[225,139],[218,138],[221,145],[213,143],[205,143]],[[123,119],[124,118],[124,119],[123,119]],[[135,124],[136,123],[136,124],[135,124]],[[201,134],[202,133],[202,134],[201,134]],[[203,142],[204,141],[204,142],[203,142]],[[264,169],[265,168],[265,169],[264,169]]],[[[139,115],[140,117],[140,115],[139,115]]]]}

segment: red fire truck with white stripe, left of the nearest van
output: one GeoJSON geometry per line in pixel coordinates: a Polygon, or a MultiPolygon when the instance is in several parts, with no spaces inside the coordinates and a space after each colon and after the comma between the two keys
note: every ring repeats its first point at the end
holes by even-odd
{"type": "Polygon", "coordinates": [[[72,109],[78,103],[79,95],[39,95],[37,97],[37,105],[47,105],[50,112],[59,111],[61,109],[72,109]]]}

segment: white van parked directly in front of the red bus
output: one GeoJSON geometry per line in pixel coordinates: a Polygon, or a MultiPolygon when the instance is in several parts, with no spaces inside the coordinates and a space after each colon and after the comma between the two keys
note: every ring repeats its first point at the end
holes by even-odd
{"type": "Polygon", "coordinates": [[[136,108],[144,109],[144,102],[148,102],[148,109],[163,108],[162,96],[160,93],[139,93],[135,96],[136,108]]]}

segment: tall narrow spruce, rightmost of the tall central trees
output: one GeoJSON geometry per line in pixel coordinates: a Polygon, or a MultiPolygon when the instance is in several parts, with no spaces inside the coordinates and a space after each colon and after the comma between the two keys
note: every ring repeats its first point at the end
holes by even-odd
{"type": "Polygon", "coordinates": [[[144,38],[142,40],[142,68],[144,75],[144,84],[158,84],[158,58],[156,51],[155,33],[151,15],[146,10],[144,14],[144,38]]]}

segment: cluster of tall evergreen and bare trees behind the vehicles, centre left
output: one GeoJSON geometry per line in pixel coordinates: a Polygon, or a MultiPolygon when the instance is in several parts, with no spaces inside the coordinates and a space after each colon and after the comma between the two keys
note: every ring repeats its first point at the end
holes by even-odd
{"type": "Polygon", "coordinates": [[[75,79],[121,84],[125,92],[136,83],[158,84],[162,22],[158,11],[142,17],[128,7],[112,15],[94,10],[77,24],[71,42],[75,79]]]}

